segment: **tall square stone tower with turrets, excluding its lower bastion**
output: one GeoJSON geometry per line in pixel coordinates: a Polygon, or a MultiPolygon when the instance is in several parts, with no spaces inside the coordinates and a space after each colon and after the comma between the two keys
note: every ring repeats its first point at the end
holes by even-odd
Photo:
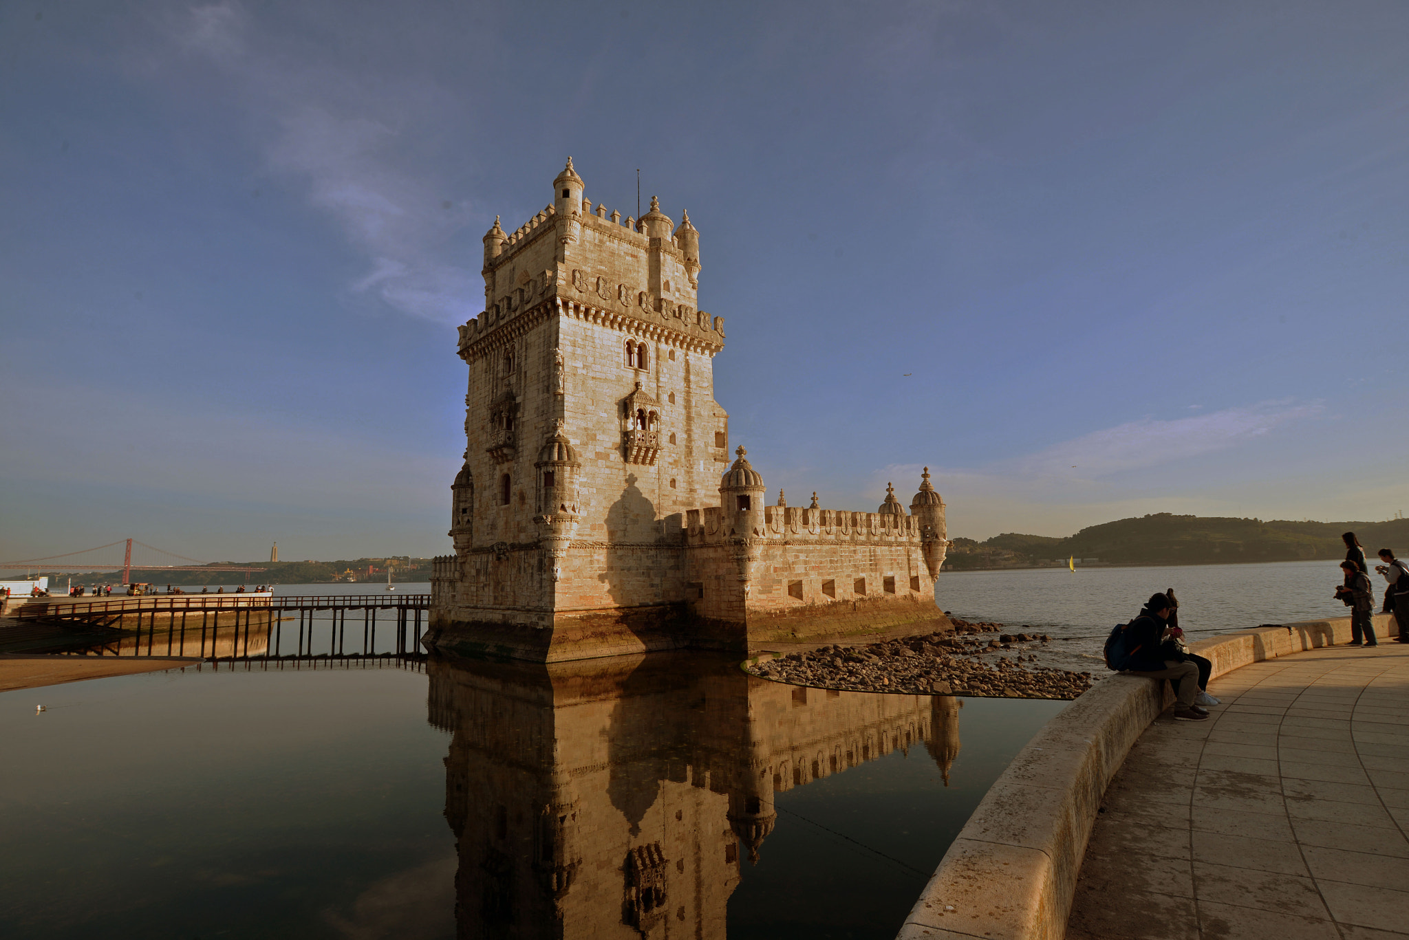
{"type": "Polygon", "coordinates": [[[603,610],[679,602],[679,558],[643,552],[671,541],[666,517],[717,499],[728,465],[712,368],[724,323],[697,309],[689,216],[676,227],[654,197],[640,220],[593,209],[571,159],[552,190],[514,231],[496,218],[485,234],[485,313],[459,331],[458,571],[441,579],[457,620],[513,650],[564,619],[599,630],[620,619],[603,610]]]}

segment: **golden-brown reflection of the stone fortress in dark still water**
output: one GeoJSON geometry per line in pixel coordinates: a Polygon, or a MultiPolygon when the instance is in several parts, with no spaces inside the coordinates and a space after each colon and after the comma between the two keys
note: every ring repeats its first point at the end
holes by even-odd
{"type": "Polygon", "coordinates": [[[699,654],[428,672],[462,937],[724,940],[775,792],[920,741],[945,774],[958,753],[952,698],[793,688],[699,654]]]}

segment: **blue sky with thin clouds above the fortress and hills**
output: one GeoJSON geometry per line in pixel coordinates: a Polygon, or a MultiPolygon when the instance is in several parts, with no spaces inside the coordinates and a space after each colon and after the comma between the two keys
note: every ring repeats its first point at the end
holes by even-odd
{"type": "Polygon", "coordinates": [[[569,154],[689,210],[790,502],[1386,519],[1406,48],[1398,0],[3,4],[0,558],[447,551],[480,237],[569,154]]]}

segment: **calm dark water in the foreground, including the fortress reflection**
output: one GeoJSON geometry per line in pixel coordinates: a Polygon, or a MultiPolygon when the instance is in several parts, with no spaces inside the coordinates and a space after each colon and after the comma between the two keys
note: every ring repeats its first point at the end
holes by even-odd
{"type": "Polygon", "coordinates": [[[426,669],[0,693],[0,936],[892,937],[1064,706],[699,655],[426,669]]]}

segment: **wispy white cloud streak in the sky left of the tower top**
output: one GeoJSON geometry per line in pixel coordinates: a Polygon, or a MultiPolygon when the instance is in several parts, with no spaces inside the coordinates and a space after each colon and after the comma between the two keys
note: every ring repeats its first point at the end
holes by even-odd
{"type": "Polygon", "coordinates": [[[479,309],[479,273],[442,256],[469,221],[424,172],[403,168],[417,117],[448,96],[427,79],[395,82],[276,54],[234,0],[190,7],[170,35],[217,69],[251,114],[268,168],[304,187],[368,259],[348,287],[418,317],[459,323],[479,309]]]}

